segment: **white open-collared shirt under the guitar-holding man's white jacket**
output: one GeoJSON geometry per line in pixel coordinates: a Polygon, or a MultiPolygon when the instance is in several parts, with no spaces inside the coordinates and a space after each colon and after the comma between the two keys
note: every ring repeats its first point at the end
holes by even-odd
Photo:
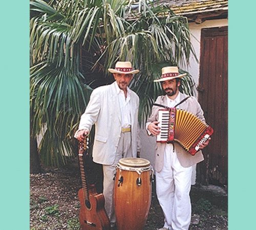
{"type": "Polygon", "coordinates": [[[130,127],[131,122],[131,89],[127,87],[127,97],[125,98],[124,91],[119,88],[115,81],[116,92],[118,95],[118,101],[121,111],[121,125],[123,128],[130,127]]]}

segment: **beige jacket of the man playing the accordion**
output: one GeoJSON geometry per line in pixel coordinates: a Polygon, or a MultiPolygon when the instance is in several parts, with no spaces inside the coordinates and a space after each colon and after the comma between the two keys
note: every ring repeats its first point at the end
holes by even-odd
{"type": "MultiPolygon", "coordinates": [[[[182,94],[182,93],[180,93],[180,94],[181,94],[181,96],[180,96],[181,101],[187,97],[187,95],[185,95],[185,94],[182,94]]],[[[159,96],[155,103],[167,106],[167,99],[165,96],[159,96]]],[[[195,97],[188,98],[185,102],[178,105],[177,108],[187,110],[187,111],[195,114],[202,121],[205,120],[204,116],[203,116],[203,110],[195,97]]],[[[162,108],[159,106],[152,107],[152,114],[151,114],[150,118],[148,118],[147,123],[151,123],[153,121],[158,120],[158,110],[159,109],[162,109],[162,108]]],[[[166,144],[164,144],[164,143],[156,144],[155,169],[157,172],[161,171],[163,168],[165,145],[166,144]]],[[[180,144],[175,143],[174,146],[175,146],[175,151],[177,153],[179,162],[183,167],[193,166],[193,165],[201,162],[204,159],[202,151],[198,151],[193,156],[193,155],[190,155],[190,153],[188,153],[184,148],[182,148],[180,144]]],[[[172,154],[172,153],[170,153],[170,154],[172,154]]]]}

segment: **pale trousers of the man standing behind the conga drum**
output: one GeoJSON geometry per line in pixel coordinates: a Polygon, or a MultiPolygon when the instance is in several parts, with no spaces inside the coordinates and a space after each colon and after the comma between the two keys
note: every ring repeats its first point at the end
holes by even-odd
{"type": "Polygon", "coordinates": [[[105,211],[109,216],[111,225],[116,222],[115,209],[114,209],[114,174],[116,172],[116,165],[119,159],[123,157],[132,157],[131,149],[131,132],[121,133],[118,143],[115,162],[112,165],[103,165],[103,195],[105,198],[105,211]]]}

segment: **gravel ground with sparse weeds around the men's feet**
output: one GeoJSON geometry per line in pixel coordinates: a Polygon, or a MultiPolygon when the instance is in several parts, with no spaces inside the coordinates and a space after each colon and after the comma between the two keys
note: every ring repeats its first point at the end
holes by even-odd
{"type": "MultiPolygon", "coordinates": [[[[81,187],[77,167],[45,169],[30,175],[30,230],[79,230],[81,187]]],[[[100,190],[100,188],[98,188],[100,190]]],[[[192,187],[193,217],[190,230],[225,230],[227,228],[227,195],[208,187],[192,187]]],[[[153,184],[152,203],[144,230],[163,225],[163,213],[153,184]]]]}

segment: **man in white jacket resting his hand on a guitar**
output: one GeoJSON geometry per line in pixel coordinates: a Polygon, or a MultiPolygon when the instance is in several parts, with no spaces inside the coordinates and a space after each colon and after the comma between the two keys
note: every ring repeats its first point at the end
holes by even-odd
{"type": "Polygon", "coordinates": [[[115,82],[93,90],[75,137],[82,141],[95,124],[93,161],[102,164],[105,210],[114,227],[115,166],[119,159],[136,157],[140,152],[139,97],[128,87],[133,74],[139,70],[132,70],[131,62],[119,61],[115,69],[109,68],[109,72],[113,73],[115,82]]]}

